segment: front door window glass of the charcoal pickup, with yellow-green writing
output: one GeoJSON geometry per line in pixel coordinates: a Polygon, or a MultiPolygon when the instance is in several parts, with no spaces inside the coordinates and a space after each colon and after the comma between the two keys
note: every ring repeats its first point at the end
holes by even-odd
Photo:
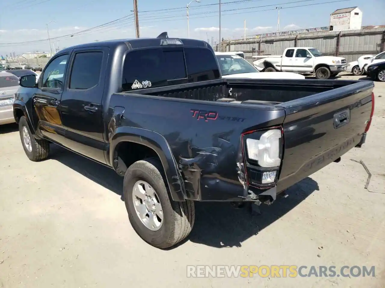
{"type": "Polygon", "coordinates": [[[68,56],[68,54],[59,56],[49,63],[43,74],[43,88],[63,88],[68,56]]]}

